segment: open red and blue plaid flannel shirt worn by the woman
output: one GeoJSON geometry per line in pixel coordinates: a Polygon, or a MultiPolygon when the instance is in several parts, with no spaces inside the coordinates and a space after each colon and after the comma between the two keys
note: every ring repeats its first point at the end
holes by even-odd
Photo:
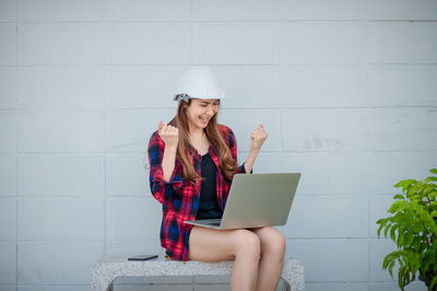
{"type": "MultiPolygon", "coordinates": [[[[222,136],[231,149],[231,154],[237,161],[237,142],[233,131],[218,125],[222,136]]],[[[192,226],[184,223],[185,220],[194,220],[199,209],[200,185],[184,181],[182,165],[176,159],[175,169],[168,181],[164,181],[162,160],[164,156],[165,143],[160,134],[154,132],[149,142],[149,162],[150,186],[153,196],[163,205],[163,221],[161,225],[161,245],[166,248],[166,254],[177,260],[188,260],[189,235],[192,226]]],[[[217,167],[216,193],[218,205],[222,210],[225,207],[227,195],[229,193],[231,181],[228,181],[220,171],[217,154],[210,146],[209,154],[217,167]]],[[[200,175],[200,155],[194,150],[192,165],[196,172],[200,175]]],[[[238,173],[246,173],[245,165],[238,168],[238,173]]]]}

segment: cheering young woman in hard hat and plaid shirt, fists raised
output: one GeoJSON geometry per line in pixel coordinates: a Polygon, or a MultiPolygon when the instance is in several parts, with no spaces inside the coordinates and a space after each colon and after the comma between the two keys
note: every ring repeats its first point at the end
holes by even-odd
{"type": "MultiPolygon", "coordinates": [[[[285,240],[274,228],[213,230],[185,220],[221,218],[235,173],[251,172],[267,138],[263,125],[251,133],[250,153],[237,165],[233,131],[217,124],[224,94],[208,68],[194,66],[179,82],[176,117],[160,122],[149,143],[150,184],[163,205],[162,246],[173,259],[235,259],[231,290],[275,290],[285,240]]],[[[268,193],[265,193],[268,195],[268,193]]]]}

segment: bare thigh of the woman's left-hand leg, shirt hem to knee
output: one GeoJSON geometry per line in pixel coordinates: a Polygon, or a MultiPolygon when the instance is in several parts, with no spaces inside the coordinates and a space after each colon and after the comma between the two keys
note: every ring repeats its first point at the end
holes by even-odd
{"type": "Polygon", "coordinates": [[[258,235],[245,229],[215,230],[193,227],[189,244],[189,259],[201,262],[235,259],[239,250],[257,253],[260,248],[258,235]]]}

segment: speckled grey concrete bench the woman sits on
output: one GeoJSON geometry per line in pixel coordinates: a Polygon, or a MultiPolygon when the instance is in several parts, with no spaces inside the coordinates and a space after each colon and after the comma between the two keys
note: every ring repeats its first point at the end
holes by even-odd
{"type": "MultiPolygon", "coordinates": [[[[178,262],[160,256],[144,262],[127,260],[120,256],[104,256],[92,270],[93,291],[111,291],[113,282],[119,277],[165,277],[165,276],[211,276],[231,275],[233,260],[202,263],[197,260],[178,262]]],[[[305,290],[304,265],[294,258],[286,258],[281,278],[291,290],[305,290]]],[[[288,289],[290,290],[290,289],[288,289]]]]}

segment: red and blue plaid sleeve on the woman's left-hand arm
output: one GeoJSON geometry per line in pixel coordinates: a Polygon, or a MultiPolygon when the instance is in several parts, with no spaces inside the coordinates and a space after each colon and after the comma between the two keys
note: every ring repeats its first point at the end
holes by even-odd
{"type": "Polygon", "coordinates": [[[164,157],[165,143],[160,134],[154,132],[149,142],[150,187],[152,195],[161,203],[165,203],[176,190],[184,184],[184,179],[177,167],[173,170],[170,179],[164,180],[162,161],[164,157]]]}

